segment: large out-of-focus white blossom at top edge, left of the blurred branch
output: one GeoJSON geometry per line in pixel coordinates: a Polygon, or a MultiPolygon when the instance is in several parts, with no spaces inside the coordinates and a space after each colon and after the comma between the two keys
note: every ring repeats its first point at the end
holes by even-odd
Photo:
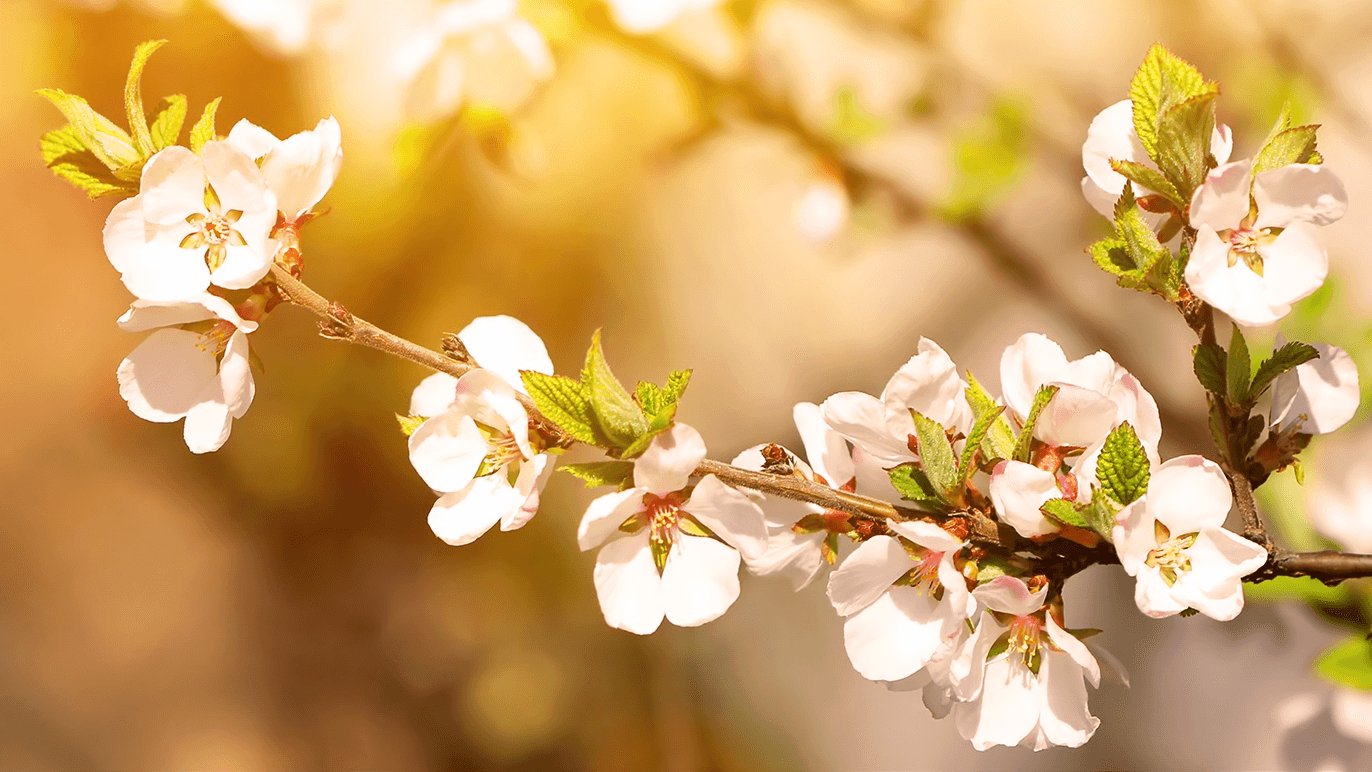
{"type": "Polygon", "coordinates": [[[553,55],[514,0],[458,0],[439,8],[395,52],[414,121],[440,121],[464,104],[512,111],[553,75],[553,55]]]}

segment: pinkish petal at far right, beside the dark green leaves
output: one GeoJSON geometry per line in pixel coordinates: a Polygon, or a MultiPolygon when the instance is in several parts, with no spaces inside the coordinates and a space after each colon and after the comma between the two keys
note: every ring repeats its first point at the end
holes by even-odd
{"type": "MultiPolygon", "coordinates": [[[[1277,341],[1280,346],[1280,341],[1277,341]]],[[[1338,346],[1314,344],[1320,352],[1272,384],[1272,426],[1284,432],[1327,435],[1347,424],[1358,410],[1358,367],[1338,346]]]]}

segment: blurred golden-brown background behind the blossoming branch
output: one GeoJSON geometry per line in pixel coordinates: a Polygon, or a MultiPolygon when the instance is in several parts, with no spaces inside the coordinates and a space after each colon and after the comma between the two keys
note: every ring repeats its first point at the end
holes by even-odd
{"type": "Polygon", "coordinates": [[[1078,189],[1087,125],[1162,41],[1224,85],[1236,158],[1284,101],[1324,125],[1353,208],[1287,335],[1368,372],[1372,7],[659,5],[527,0],[464,27],[421,0],[0,3],[0,767],[1372,765],[1309,675],[1336,628],[1298,602],[1150,621],[1115,569],[1069,586],[1069,624],[1103,628],[1133,683],[1092,692],[1077,750],[977,753],[863,680],[823,580],[745,576],[702,628],[611,629],[573,538],[593,494],[557,476],[528,527],[445,546],[392,417],[425,373],[296,309],[252,336],[265,372],[220,453],[128,411],[110,202],[43,167],[62,119],[33,89],[119,117],[152,38],[150,106],[185,93],[193,121],[224,96],[221,133],[283,137],[338,117],[343,174],[303,239],[316,289],[428,346],[512,314],[563,372],[602,326],[626,381],[694,367],[679,417],[722,459],[796,447],[794,402],[879,394],[921,336],[995,387],[1029,330],[1107,348],[1157,398],[1163,455],[1209,453],[1190,332],[1084,254],[1107,229],[1078,189]]]}

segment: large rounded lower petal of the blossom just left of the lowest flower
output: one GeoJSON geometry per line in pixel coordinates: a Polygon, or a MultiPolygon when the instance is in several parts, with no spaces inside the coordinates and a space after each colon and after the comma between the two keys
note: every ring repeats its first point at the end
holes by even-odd
{"type": "Polygon", "coordinates": [[[938,603],[914,587],[892,587],[844,621],[844,649],[853,669],[874,681],[896,681],[923,668],[943,639],[938,603]]]}

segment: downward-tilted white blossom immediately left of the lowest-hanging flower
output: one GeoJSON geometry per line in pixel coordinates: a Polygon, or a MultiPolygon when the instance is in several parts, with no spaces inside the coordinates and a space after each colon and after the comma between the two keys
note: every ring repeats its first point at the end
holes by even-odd
{"type": "Polygon", "coordinates": [[[975,610],[954,562],[965,542],[923,521],[886,521],[829,577],[844,649],[863,677],[900,681],[960,635],[975,610]]]}

